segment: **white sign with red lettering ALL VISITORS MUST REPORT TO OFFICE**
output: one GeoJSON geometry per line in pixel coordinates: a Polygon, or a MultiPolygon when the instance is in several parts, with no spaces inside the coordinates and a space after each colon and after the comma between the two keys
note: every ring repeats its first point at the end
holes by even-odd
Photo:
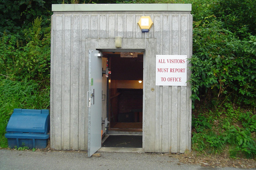
{"type": "Polygon", "coordinates": [[[156,86],[187,86],[187,55],[156,55],[156,86]]]}

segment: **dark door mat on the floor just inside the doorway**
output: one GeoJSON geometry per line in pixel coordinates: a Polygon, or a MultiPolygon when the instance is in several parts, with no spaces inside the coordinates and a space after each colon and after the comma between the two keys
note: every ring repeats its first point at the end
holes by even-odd
{"type": "Polygon", "coordinates": [[[142,135],[110,135],[102,147],[142,148],[142,135]]]}

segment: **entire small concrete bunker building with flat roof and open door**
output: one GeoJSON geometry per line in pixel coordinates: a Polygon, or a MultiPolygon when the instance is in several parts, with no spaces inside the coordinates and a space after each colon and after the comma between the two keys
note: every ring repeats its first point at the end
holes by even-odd
{"type": "Polygon", "coordinates": [[[183,84],[172,84],[181,80],[178,69],[159,64],[191,57],[191,4],[56,4],[52,11],[51,147],[90,156],[102,130],[142,135],[145,152],[190,150],[189,64],[180,69],[183,84]],[[153,22],[149,32],[140,29],[142,16],[153,22]],[[177,73],[168,77],[171,69],[177,73]],[[159,83],[166,71],[169,83],[159,83]]]}

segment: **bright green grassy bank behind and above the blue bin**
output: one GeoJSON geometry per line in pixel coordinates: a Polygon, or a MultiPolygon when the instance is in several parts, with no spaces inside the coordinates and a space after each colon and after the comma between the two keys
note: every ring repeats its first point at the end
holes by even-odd
{"type": "Polygon", "coordinates": [[[35,81],[0,80],[0,148],[7,148],[4,137],[14,108],[49,109],[50,87],[39,89],[35,81]]]}

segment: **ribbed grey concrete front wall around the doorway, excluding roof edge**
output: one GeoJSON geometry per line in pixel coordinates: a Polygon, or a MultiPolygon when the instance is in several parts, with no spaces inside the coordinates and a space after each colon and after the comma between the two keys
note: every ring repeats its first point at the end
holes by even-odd
{"type": "MultiPolygon", "coordinates": [[[[51,43],[51,147],[87,150],[88,49],[145,49],[143,71],[143,148],[184,152],[191,145],[190,84],[155,86],[156,55],[192,52],[190,12],[54,12],[51,43]],[[149,15],[153,27],[137,24],[149,15]],[[146,36],[146,41],[145,41],[146,36]],[[146,45],[145,45],[146,42],[146,45]]],[[[188,79],[190,71],[187,72],[188,79]]]]}

